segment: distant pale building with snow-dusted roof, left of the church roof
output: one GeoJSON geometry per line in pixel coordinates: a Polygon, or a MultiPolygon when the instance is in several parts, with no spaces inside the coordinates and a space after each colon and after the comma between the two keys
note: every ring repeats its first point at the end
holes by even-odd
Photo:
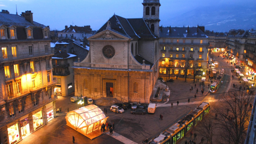
{"type": "Polygon", "coordinates": [[[65,38],[65,39],[76,39],[80,41],[84,41],[84,38],[88,38],[92,36],[92,29],[91,26],[72,26],[68,27],[67,25],[65,26],[65,29],[62,31],[58,31],[58,37],[59,40],[65,38]]]}

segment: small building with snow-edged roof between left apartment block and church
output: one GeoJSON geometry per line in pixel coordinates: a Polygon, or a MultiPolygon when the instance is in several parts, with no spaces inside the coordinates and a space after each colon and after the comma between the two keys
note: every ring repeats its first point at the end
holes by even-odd
{"type": "Polygon", "coordinates": [[[54,94],[68,96],[74,90],[74,65],[76,55],[57,51],[52,57],[52,74],[57,78],[54,94]]]}

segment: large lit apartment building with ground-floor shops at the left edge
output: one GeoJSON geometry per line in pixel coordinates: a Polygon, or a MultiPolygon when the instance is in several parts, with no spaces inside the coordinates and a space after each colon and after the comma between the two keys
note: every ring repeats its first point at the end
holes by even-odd
{"type": "Polygon", "coordinates": [[[49,27],[21,16],[0,13],[0,141],[24,139],[56,116],[49,27]]]}

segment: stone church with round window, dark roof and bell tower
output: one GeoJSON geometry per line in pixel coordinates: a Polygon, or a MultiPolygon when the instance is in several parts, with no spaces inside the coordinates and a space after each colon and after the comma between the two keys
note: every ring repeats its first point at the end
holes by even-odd
{"type": "Polygon", "coordinates": [[[143,1],[143,18],[113,15],[74,62],[75,96],[149,103],[158,78],[159,0],[143,1]]]}

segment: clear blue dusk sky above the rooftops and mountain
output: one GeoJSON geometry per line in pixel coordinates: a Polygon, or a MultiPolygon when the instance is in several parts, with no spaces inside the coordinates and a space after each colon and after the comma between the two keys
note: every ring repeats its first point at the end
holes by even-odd
{"type": "MultiPolygon", "coordinates": [[[[65,25],[91,25],[98,30],[116,15],[125,18],[142,18],[143,0],[0,0],[0,8],[11,14],[31,10],[34,21],[63,30],[65,25]]],[[[160,19],[169,19],[200,7],[255,4],[254,0],[160,0],[160,19]]],[[[223,7],[224,8],[224,7],[223,7]]],[[[161,25],[161,21],[160,21],[161,25]]]]}

